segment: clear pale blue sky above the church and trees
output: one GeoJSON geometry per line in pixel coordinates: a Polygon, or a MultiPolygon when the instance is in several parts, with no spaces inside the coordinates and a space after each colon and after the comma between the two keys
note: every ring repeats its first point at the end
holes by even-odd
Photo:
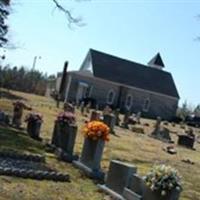
{"type": "Polygon", "coordinates": [[[70,29],[52,0],[13,0],[8,23],[16,48],[6,50],[4,64],[32,68],[37,56],[35,69],[56,74],[66,60],[78,70],[89,48],[142,64],[160,52],[180,103],[200,103],[200,0],[59,2],[85,26],[70,29]]]}

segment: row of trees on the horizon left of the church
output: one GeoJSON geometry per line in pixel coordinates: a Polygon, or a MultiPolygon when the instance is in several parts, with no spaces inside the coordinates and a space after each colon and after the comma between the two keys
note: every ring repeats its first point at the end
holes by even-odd
{"type": "Polygon", "coordinates": [[[20,68],[0,66],[0,87],[6,89],[44,95],[48,78],[47,74],[23,66],[20,68]]]}

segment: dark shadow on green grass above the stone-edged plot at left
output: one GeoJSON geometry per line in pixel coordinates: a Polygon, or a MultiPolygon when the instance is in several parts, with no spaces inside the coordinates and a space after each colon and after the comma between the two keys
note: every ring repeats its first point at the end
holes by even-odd
{"type": "Polygon", "coordinates": [[[0,126],[0,151],[43,154],[45,147],[26,133],[0,126]]]}

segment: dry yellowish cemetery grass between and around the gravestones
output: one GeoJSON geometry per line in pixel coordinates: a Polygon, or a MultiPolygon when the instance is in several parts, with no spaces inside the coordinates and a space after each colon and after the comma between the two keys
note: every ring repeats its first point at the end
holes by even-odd
{"type": "MultiPolygon", "coordinates": [[[[6,94],[6,91],[5,91],[6,94]]],[[[21,92],[10,91],[8,95],[0,98],[0,108],[9,114],[12,114],[12,101],[16,98],[24,98],[27,104],[31,105],[34,111],[41,112],[44,116],[41,137],[44,141],[50,141],[54,120],[62,109],[56,108],[56,103],[52,99],[37,95],[25,94],[21,92]]],[[[27,111],[24,113],[27,113],[27,111]]],[[[75,144],[75,153],[80,155],[83,145],[82,126],[87,117],[81,116],[76,111],[78,123],[78,136],[75,144]]],[[[181,200],[200,200],[200,144],[195,144],[196,150],[189,150],[182,147],[177,148],[176,155],[167,154],[163,147],[167,144],[150,138],[149,133],[153,130],[155,121],[142,119],[142,123],[148,123],[150,126],[144,126],[145,134],[134,133],[131,130],[115,128],[117,136],[111,135],[110,142],[106,144],[102,160],[102,169],[108,170],[111,159],[118,159],[130,162],[138,167],[138,173],[144,175],[155,163],[165,163],[172,165],[179,170],[183,181],[183,192],[181,200]],[[195,164],[184,163],[182,159],[190,159],[195,164]]],[[[25,124],[23,124],[25,127],[25,124]]],[[[176,133],[183,129],[179,125],[167,126],[171,135],[177,141],[176,133]]],[[[200,130],[195,130],[200,134],[200,130]]],[[[45,151],[44,144],[29,138],[25,131],[18,131],[12,128],[0,126],[0,151],[16,151],[19,153],[34,153],[45,155],[46,163],[51,168],[58,171],[69,173],[70,183],[61,183],[53,181],[36,181],[31,179],[22,179],[9,176],[0,176],[0,200],[1,199],[37,199],[37,200],[100,200],[109,199],[108,196],[98,191],[95,183],[86,178],[78,169],[71,164],[57,161],[54,154],[45,151]]]]}

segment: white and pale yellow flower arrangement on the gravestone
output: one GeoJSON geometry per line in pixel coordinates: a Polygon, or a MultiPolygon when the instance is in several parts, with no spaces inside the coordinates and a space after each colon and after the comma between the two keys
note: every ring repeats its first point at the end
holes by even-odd
{"type": "Polygon", "coordinates": [[[155,166],[145,177],[145,183],[152,191],[158,191],[162,196],[173,189],[182,188],[177,170],[166,165],[155,166]]]}

